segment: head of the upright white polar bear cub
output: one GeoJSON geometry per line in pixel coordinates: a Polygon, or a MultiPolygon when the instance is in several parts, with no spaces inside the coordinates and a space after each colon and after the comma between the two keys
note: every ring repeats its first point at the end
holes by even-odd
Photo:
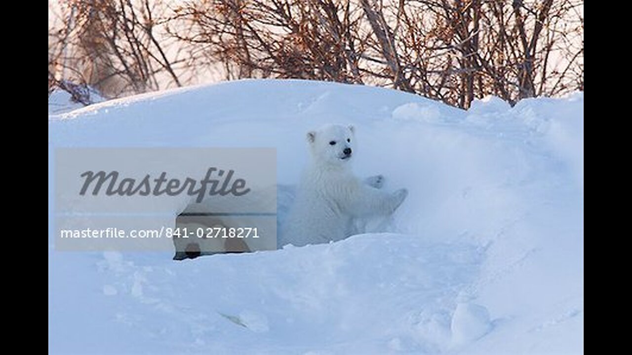
{"type": "Polygon", "coordinates": [[[319,164],[345,165],[353,157],[353,126],[326,124],[307,133],[312,159],[319,164]]]}

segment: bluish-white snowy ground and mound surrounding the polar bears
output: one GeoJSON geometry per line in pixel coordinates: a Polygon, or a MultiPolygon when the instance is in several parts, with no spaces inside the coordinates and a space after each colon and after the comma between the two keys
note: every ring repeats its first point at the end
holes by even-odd
{"type": "Polygon", "coordinates": [[[466,112],[250,80],[49,114],[48,258],[52,353],[583,353],[583,93],[466,112]],[[54,147],[276,147],[295,184],[323,123],[355,124],[356,172],[410,191],[391,233],[185,262],[54,251],[54,147]]]}

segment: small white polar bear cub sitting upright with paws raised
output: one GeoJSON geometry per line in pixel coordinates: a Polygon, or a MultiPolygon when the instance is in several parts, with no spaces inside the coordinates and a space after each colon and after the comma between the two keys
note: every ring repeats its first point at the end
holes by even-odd
{"type": "Polygon", "coordinates": [[[379,190],[382,176],[362,181],[351,171],[353,126],[328,124],[307,133],[310,162],[296,191],[279,246],[327,243],[355,234],[356,219],[387,216],[401,205],[406,189],[379,190]]]}

